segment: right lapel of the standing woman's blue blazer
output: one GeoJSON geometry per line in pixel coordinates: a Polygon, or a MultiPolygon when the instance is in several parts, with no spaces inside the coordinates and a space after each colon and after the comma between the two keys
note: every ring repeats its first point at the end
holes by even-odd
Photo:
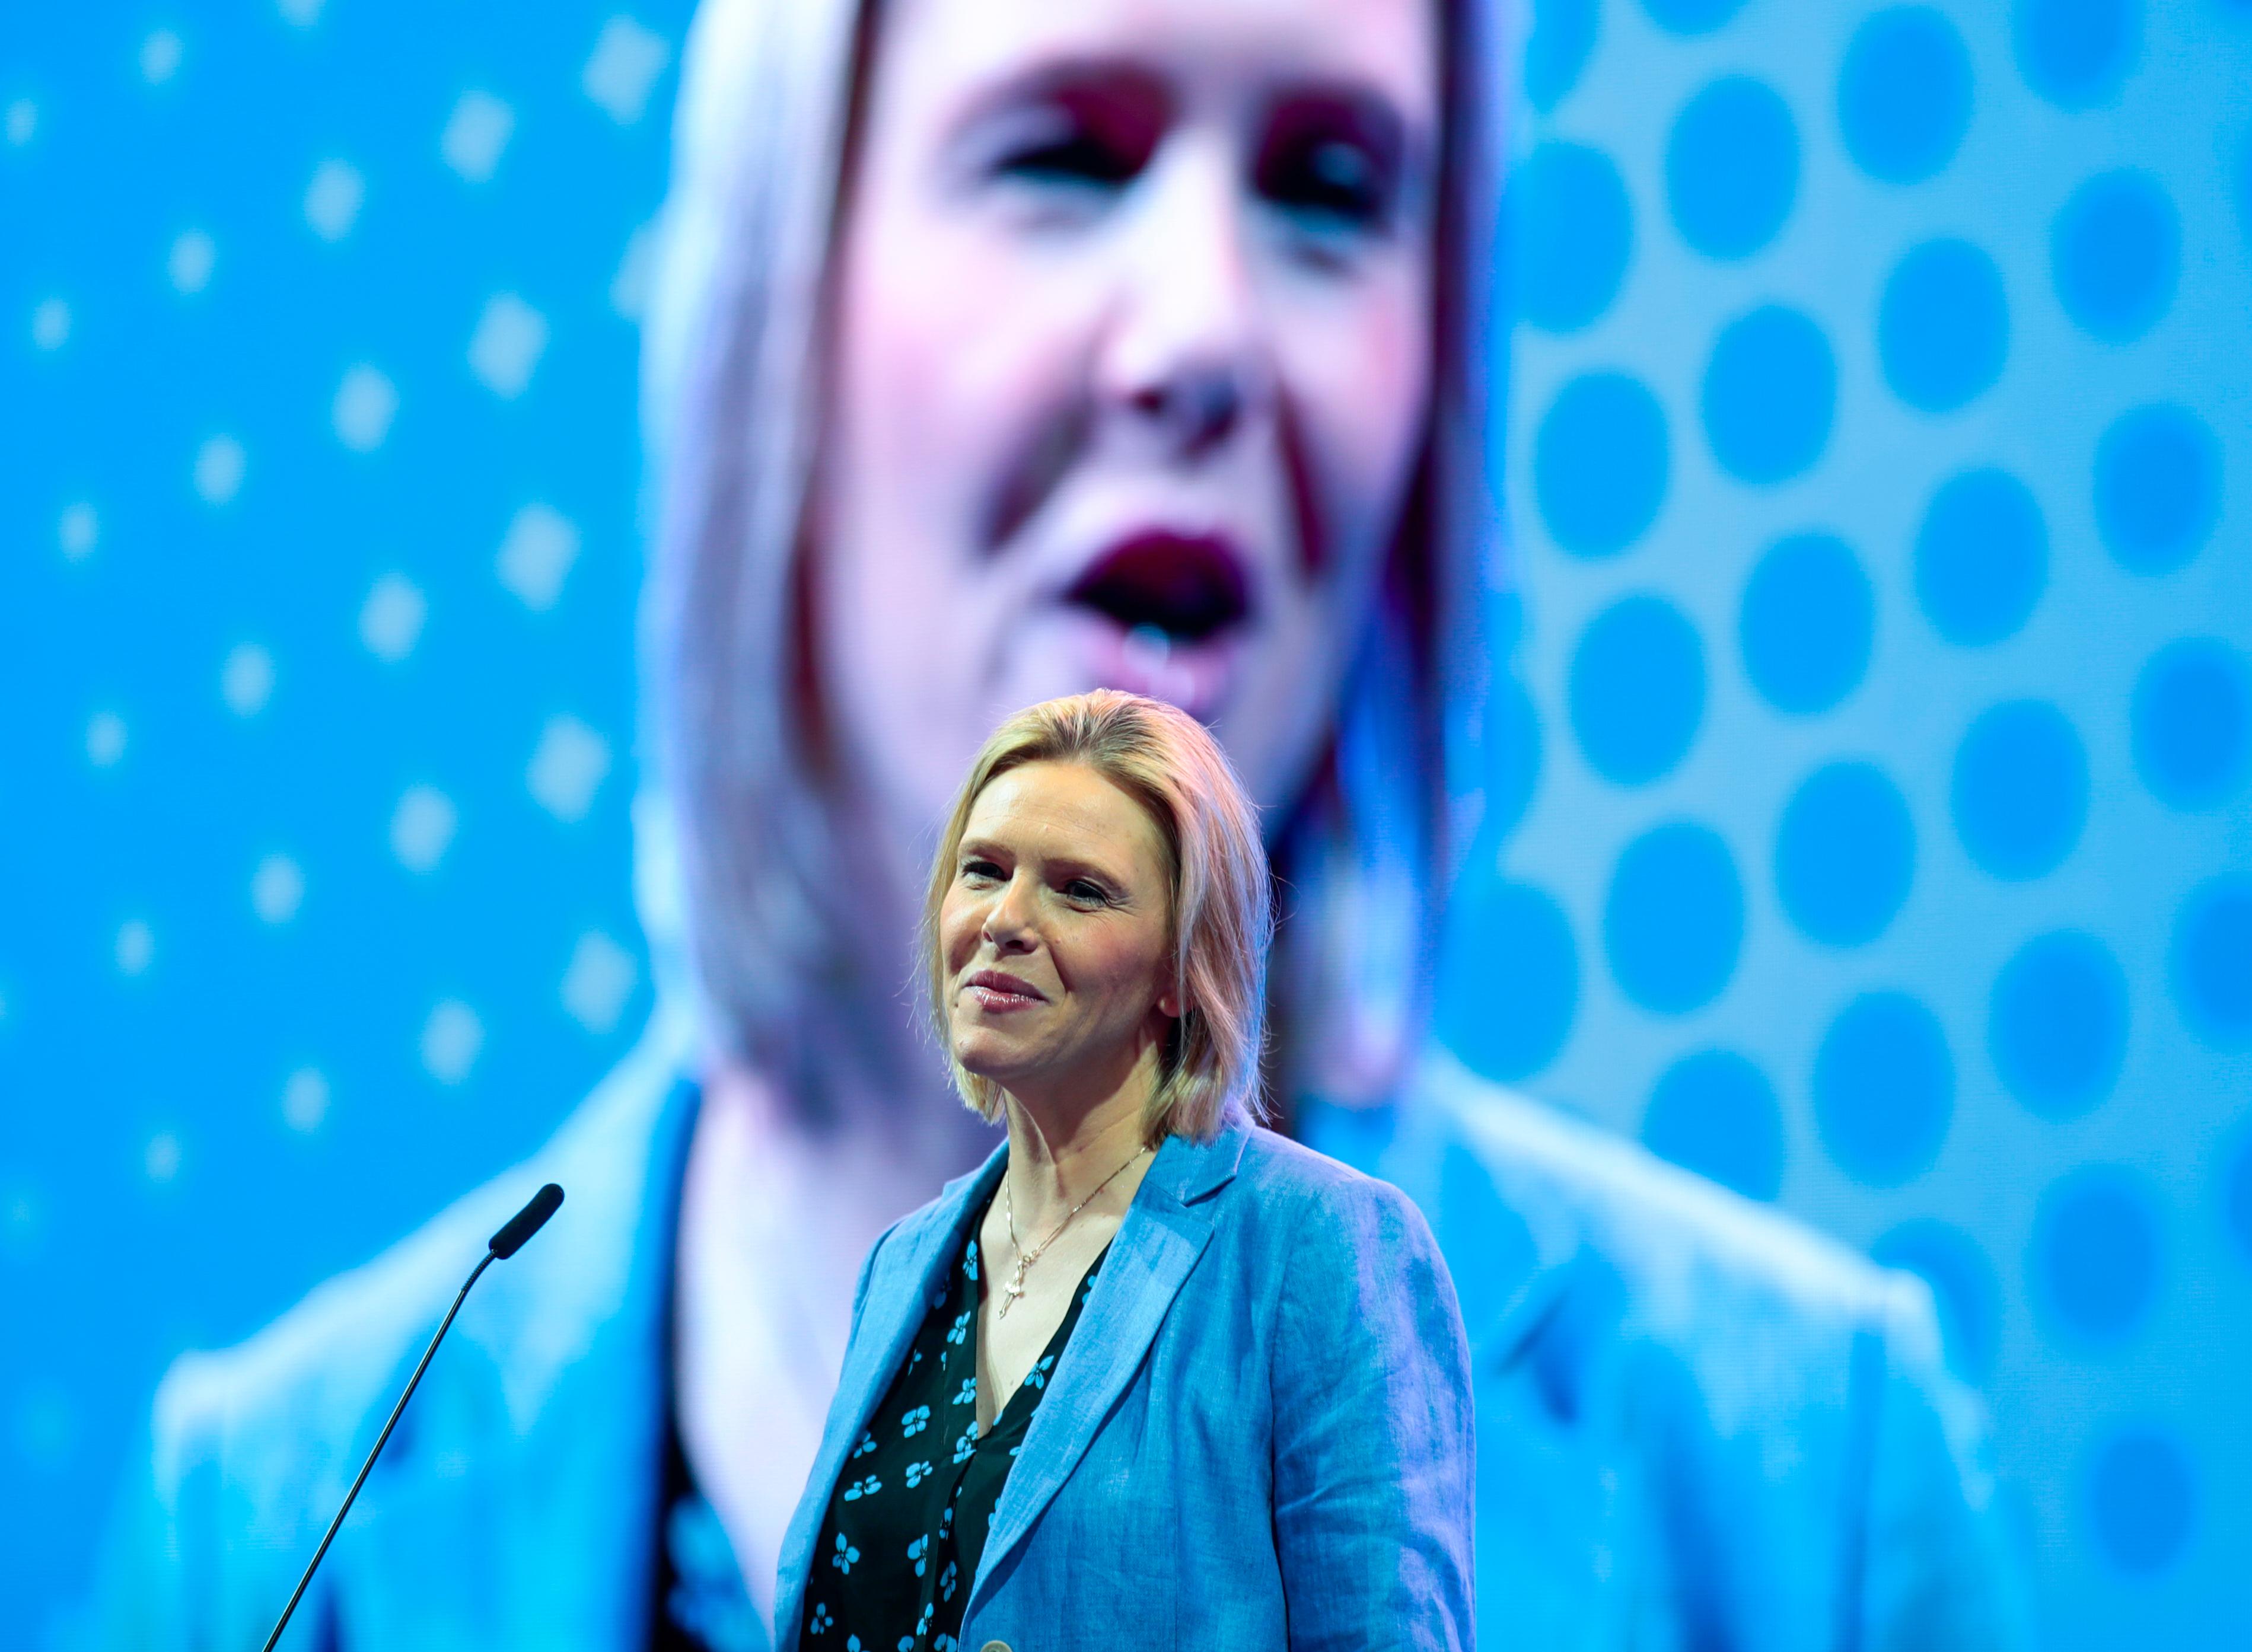
{"type": "Polygon", "coordinates": [[[1126,1220],[1110,1240],[1110,1256],[1063,1359],[1056,1362],[1040,1409],[1025,1429],[964,1602],[964,1623],[977,1611],[993,1569],[1025,1542],[1140,1368],[1173,1296],[1212,1238],[1214,1213],[1205,1200],[1234,1177],[1245,1141],[1243,1130],[1225,1130],[1205,1146],[1169,1137],[1158,1150],[1158,1161],[1142,1177],[1126,1220]]]}

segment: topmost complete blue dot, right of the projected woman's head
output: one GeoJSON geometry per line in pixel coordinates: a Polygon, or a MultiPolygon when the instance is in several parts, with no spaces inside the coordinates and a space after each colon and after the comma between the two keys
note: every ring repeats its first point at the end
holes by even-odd
{"type": "Polygon", "coordinates": [[[1887,185],[1946,167],[1970,128],[1970,54],[1928,7],[1892,7],[1853,32],[1838,72],[1838,126],[1853,164],[1887,185]]]}

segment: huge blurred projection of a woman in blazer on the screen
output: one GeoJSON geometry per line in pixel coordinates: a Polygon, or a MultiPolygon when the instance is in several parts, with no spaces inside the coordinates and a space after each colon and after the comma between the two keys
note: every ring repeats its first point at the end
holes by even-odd
{"type": "Polygon", "coordinates": [[[703,7],[644,385],[655,1024],[522,1175],[173,1371],[117,1643],[263,1634],[464,1245],[552,1177],[304,1634],[761,1645],[860,1263],[993,1146],[917,1033],[930,849],[1004,716],[1097,686],[1225,745],[1281,873],[1270,1103],[1462,1287],[1484,1632],[2011,1641],[1921,1287],[1426,1042],[1500,63],[1471,0],[703,7]]]}

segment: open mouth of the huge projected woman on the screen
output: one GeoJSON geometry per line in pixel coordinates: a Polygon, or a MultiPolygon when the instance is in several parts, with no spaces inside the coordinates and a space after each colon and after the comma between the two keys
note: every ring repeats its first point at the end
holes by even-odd
{"type": "Polygon", "coordinates": [[[1119,540],[1063,601],[1094,626],[1103,686],[1169,700],[1209,720],[1227,698],[1252,617],[1245,558],[1223,538],[1151,531],[1119,540]]]}

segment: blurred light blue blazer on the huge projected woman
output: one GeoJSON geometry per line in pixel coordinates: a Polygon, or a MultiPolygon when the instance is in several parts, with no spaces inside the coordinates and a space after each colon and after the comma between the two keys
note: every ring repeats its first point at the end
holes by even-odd
{"type": "MultiPolygon", "coordinates": [[[[570,1204],[462,1310],[284,1650],[644,1652],[673,1200],[696,1116],[685,1053],[651,1038],[527,1164],[250,1341],[182,1357],[158,1391],[83,1643],[259,1645],[468,1263],[540,1182],[561,1182],[570,1204]]],[[[1396,1107],[1306,1125],[1407,1193],[1455,1276],[1486,1652],[2025,1643],[1980,1407],[1941,1366],[1919,1281],[1441,1053],[1396,1107]]],[[[1180,1227],[1151,1215],[1153,1269],[1218,1220],[1214,1197],[1182,1197],[1194,1179],[1173,1186],[1180,1227]]],[[[1203,1245],[1205,1265],[1245,1256],[1216,1227],[1203,1245]]],[[[1128,1294],[1142,1301],[1124,1283],[1115,1299],[1128,1294]]],[[[1097,1330],[1083,1321],[1088,1346],[1097,1330]]],[[[1167,1346],[1155,1326],[1146,1341],[1167,1346]]],[[[872,1353],[856,1382],[878,1368],[872,1353]]],[[[1239,1375],[1207,1382],[1272,1404],[1239,1375]]],[[[1056,1434],[1074,1431],[1065,1416],[1049,1418],[1056,1434]]],[[[1083,1427],[1074,1476],[1092,1479],[1112,1447],[1099,1416],[1083,1427]]],[[[1061,1488],[1065,1454],[1049,1461],[1061,1488]]],[[[1045,1479],[1011,1488],[1027,1533],[1045,1479]]],[[[1076,1506],[1076,1492],[1061,1503],[1076,1506]]],[[[1009,1609],[1018,1578],[1054,1575],[1045,1553],[995,1557],[980,1611],[1009,1609]]],[[[1110,1553],[1072,1560],[1090,1598],[1126,1591],[1103,1571],[1110,1553]]],[[[1169,1587],[1144,1582],[1149,1596],[1169,1587]]],[[[1196,1634],[1203,1602],[1178,1600],[1178,1627],[1196,1634]]],[[[748,1605],[743,1618],[757,1634],[748,1605]]]]}

